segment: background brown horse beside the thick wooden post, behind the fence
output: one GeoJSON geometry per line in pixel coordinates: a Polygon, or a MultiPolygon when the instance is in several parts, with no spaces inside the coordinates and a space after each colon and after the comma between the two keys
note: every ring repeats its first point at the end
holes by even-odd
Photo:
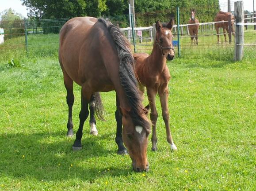
{"type": "Polygon", "coordinates": [[[229,21],[229,15],[231,15],[231,29],[230,29],[230,31],[234,35],[234,22],[233,22],[234,16],[231,13],[229,13],[229,12],[225,13],[225,12],[219,11],[217,13],[217,15],[215,16],[215,18],[214,18],[214,22],[218,22],[218,23],[215,23],[215,29],[216,29],[217,37],[218,37],[218,43],[220,43],[219,28],[223,29],[225,42],[227,41],[226,40],[226,32],[229,33],[229,43],[231,43],[231,32],[229,31],[229,22],[227,22],[227,21],[229,21]],[[220,22],[220,21],[225,21],[225,22],[220,22]]]}

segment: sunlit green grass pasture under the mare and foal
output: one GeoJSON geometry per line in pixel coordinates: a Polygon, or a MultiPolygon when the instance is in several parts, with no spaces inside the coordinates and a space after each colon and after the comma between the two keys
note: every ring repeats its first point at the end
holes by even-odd
{"type": "MultiPolygon", "coordinates": [[[[65,136],[68,107],[57,56],[9,55],[0,59],[0,190],[255,190],[255,47],[241,62],[218,56],[168,62],[178,150],[166,142],[157,97],[158,150],[150,150],[149,139],[149,173],[133,172],[129,155],[116,154],[115,92],[101,93],[107,121],[97,121],[99,136],[89,135],[87,120],[83,149],[74,152],[75,138],[65,136]]],[[[76,131],[78,85],[74,94],[76,131]]]]}

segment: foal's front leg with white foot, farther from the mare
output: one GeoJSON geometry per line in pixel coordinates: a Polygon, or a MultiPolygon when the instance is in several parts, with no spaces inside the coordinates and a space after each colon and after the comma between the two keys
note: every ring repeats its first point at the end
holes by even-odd
{"type": "Polygon", "coordinates": [[[162,115],[163,115],[164,124],[165,124],[167,142],[170,143],[172,150],[177,150],[177,147],[172,140],[172,134],[171,134],[171,129],[169,125],[170,117],[169,117],[169,110],[168,110],[168,94],[169,94],[168,84],[163,84],[158,89],[158,94],[160,97],[160,103],[162,107],[162,115]]]}

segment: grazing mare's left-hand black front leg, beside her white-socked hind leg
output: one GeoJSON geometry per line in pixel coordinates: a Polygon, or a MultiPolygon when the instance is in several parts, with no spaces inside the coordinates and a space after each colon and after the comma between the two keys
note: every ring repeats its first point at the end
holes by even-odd
{"type": "Polygon", "coordinates": [[[73,150],[80,150],[82,148],[81,139],[83,136],[83,127],[84,127],[84,121],[88,118],[89,110],[88,110],[88,104],[90,100],[91,94],[88,94],[85,92],[85,88],[82,87],[81,89],[81,110],[79,113],[79,128],[76,132],[76,140],[73,144],[73,150]]]}

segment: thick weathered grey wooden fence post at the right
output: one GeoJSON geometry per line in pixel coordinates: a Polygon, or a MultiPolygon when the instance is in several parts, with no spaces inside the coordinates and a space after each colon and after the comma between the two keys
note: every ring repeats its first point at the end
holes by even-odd
{"type": "Polygon", "coordinates": [[[236,18],[234,60],[241,60],[244,54],[244,2],[236,1],[234,7],[236,18]]]}

